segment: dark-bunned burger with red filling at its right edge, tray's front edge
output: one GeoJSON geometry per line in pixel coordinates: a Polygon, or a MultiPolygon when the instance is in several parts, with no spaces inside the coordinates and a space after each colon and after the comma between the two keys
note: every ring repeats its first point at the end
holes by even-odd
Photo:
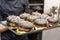
{"type": "Polygon", "coordinates": [[[48,27],[48,23],[46,19],[36,19],[35,20],[35,29],[43,29],[43,28],[47,28],[48,27]]]}

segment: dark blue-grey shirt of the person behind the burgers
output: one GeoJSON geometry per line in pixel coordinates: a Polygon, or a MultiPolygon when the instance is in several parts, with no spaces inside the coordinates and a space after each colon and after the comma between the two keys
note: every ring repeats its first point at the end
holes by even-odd
{"type": "Polygon", "coordinates": [[[5,18],[9,15],[19,15],[22,12],[30,12],[28,0],[0,0],[0,14],[5,18]]]}

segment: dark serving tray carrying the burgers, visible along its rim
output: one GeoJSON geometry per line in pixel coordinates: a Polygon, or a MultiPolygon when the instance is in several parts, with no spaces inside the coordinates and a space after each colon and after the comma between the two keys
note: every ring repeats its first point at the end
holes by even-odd
{"type": "MultiPolygon", "coordinates": [[[[7,24],[7,21],[1,21],[1,23],[7,27],[10,31],[12,31],[14,34],[16,35],[25,35],[25,34],[33,34],[33,33],[39,33],[40,31],[42,32],[43,30],[48,30],[48,29],[52,29],[52,28],[56,28],[56,27],[48,27],[48,28],[44,28],[41,30],[34,30],[33,32],[26,32],[26,33],[22,33],[22,34],[17,34],[16,31],[11,30],[10,26],[7,24]]],[[[59,27],[59,26],[58,26],[59,27]]]]}

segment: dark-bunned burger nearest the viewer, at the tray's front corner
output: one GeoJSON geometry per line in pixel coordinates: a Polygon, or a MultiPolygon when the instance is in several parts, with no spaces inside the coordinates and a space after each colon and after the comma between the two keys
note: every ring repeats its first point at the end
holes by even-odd
{"type": "Polygon", "coordinates": [[[18,29],[23,32],[30,32],[34,28],[34,25],[28,21],[19,22],[18,25],[20,26],[18,29]]]}

